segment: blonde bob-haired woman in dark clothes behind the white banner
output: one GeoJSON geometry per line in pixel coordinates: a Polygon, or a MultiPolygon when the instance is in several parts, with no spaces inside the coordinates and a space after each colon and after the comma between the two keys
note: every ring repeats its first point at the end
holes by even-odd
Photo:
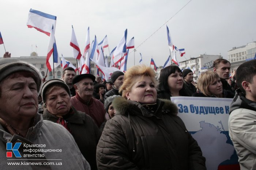
{"type": "Polygon", "coordinates": [[[222,91],[221,79],[214,71],[206,71],[200,74],[197,89],[199,92],[194,93],[193,97],[229,98],[231,95],[228,91],[222,91]]]}

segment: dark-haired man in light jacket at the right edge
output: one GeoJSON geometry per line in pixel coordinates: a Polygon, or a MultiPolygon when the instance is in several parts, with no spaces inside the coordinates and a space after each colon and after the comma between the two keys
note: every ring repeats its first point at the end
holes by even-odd
{"type": "Polygon", "coordinates": [[[236,71],[238,89],[229,111],[229,136],[241,170],[256,169],[256,60],[236,71]]]}

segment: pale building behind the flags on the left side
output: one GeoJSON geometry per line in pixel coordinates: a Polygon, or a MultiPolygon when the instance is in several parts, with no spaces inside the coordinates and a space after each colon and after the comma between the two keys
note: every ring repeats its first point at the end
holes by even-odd
{"type": "MultiPolygon", "coordinates": [[[[48,71],[46,67],[46,56],[38,56],[36,52],[32,52],[30,56],[20,56],[20,57],[12,57],[16,59],[20,59],[22,61],[33,64],[36,68],[39,69],[42,76],[45,77],[47,74],[46,80],[53,79],[53,70],[51,72],[48,71]]],[[[65,57],[65,60],[71,62],[75,67],[77,67],[76,59],[73,57],[65,57]]],[[[110,63],[110,58],[108,58],[110,63]]],[[[59,65],[57,68],[54,68],[54,78],[60,79],[62,77],[62,67],[59,65]]],[[[78,72],[76,72],[78,74],[78,72]]],[[[97,68],[94,62],[91,62],[91,74],[97,76],[97,68]]]]}

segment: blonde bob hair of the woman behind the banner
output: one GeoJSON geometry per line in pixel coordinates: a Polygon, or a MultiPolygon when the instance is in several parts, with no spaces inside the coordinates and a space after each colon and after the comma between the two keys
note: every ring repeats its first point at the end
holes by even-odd
{"type": "Polygon", "coordinates": [[[211,96],[212,94],[208,90],[208,86],[214,82],[215,79],[219,79],[219,76],[214,71],[203,72],[197,81],[197,89],[200,90],[204,95],[211,96]]]}

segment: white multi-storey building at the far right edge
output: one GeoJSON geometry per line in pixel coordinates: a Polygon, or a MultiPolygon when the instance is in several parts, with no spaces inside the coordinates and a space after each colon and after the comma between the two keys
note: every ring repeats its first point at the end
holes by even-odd
{"type": "Polygon", "coordinates": [[[253,59],[255,56],[255,53],[256,53],[256,41],[253,41],[252,43],[247,43],[246,45],[241,47],[233,47],[232,50],[229,50],[227,52],[228,60],[231,63],[231,66],[233,65],[233,63],[237,63],[240,61],[245,62],[246,60],[253,59]]]}

